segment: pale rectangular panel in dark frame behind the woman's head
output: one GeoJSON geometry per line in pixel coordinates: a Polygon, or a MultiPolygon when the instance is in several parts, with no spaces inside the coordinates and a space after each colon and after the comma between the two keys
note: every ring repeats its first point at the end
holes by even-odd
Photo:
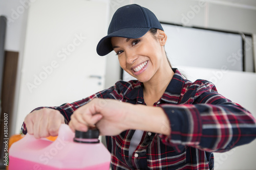
{"type": "Polygon", "coordinates": [[[195,66],[243,70],[242,37],[195,28],[162,24],[168,37],[165,51],[174,67],[195,66]]]}

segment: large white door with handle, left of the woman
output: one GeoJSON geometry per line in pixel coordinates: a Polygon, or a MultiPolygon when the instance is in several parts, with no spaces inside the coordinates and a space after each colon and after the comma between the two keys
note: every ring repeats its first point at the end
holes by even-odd
{"type": "Polygon", "coordinates": [[[82,0],[31,4],[16,132],[36,107],[71,103],[103,89],[105,58],[96,45],[106,34],[107,8],[82,0]]]}

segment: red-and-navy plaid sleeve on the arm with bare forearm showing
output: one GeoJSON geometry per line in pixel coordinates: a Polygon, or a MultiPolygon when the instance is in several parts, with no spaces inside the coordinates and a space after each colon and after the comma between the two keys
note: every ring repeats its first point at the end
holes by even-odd
{"type": "Polygon", "coordinates": [[[256,137],[255,120],[238,105],[162,105],[172,133],[163,136],[166,144],[189,145],[205,151],[223,152],[256,137]]]}

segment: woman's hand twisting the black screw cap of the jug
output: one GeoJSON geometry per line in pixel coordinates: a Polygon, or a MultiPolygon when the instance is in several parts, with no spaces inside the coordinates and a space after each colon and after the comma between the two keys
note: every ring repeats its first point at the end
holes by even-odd
{"type": "Polygon", "coordinates": [[[87,131],[88,127],[96,126],[100,135],[115,136],[129,129],[125,125],[125,113],[131,106],[113,99],[96,98],[75,110],[69,126],[73,131],[87,131]]]}

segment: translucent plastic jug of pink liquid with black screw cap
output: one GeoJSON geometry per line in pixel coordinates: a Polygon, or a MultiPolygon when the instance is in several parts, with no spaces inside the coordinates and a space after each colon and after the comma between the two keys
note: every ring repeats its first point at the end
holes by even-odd
{"type": "Polygon", "coordinates": [[[55,141],[27,134],[9,149],[9,170],[109,170],[111,155],[98,136],[98,130],[74,133],[65,124],[55,141]]]}

